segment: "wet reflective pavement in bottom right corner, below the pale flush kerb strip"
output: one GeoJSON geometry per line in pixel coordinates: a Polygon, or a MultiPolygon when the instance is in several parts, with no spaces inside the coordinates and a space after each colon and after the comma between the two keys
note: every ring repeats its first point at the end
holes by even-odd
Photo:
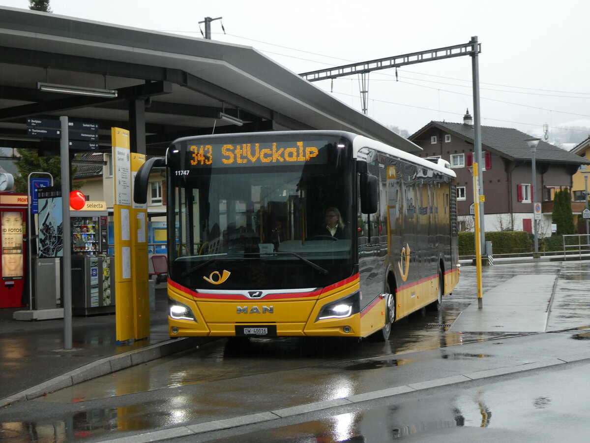
{"type": "MultiPolygon", "coordinates": [[[[585,383],[590,364],[559,373],[545,372],[466,389],[391,398],[385,405],[340,408],[313,421],[261,431],[209,435],[202,441],[365,442],[407,438],[432,441],[586,441],[590,422],[585,383]],[[342,409],[350,409],[343,413],[342,409]],[[229,437],[227,435],[230,435],[229,437]]],[[[179,442],[189,441],[188,438],[179,442]]]]}

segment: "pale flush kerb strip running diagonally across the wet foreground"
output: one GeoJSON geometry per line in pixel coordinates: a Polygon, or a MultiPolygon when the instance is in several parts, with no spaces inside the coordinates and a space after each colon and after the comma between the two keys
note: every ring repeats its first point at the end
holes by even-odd
{"type": "Polygon", "coordinates": [[[274,421],[282,418],[303,415],[310,412],[322,411],[324,409],[338,408],[339,406],[355,405],[371,400],[392,397],[395,395],[409,392],[418,392],[432,387],[441,387],[448,385],[457,385],[458,383],[473,382],[491,377],[503,376],[526,372],[529,370],[541,369],[545,367],[556,366],[560,364],[573,363],[575,361],[590,360],[590,353],[574,354],[572,356],[555,358],[550,360],[535,361],[533,363],[520,364],[519,366],[501,367],[497,369],[487,369],[469,374],[444,377],[437,380],[428,380],[425,382],[411,383],[409,385],[389,387],[388,389],[376,390],[356,394],[344,398],[324,400],[322,402],[307,403],[290,408],[276,409],[275,411],[259,412],[251,415],[242,415],[232,418],[225,418],[211,422],[204,422],[195,425],[176,426],[175,428],[162,429],[160,431],[147,432],[141,435],[129,435],[126,437],[117,437],[104,439],[100,441],[110,443],[147,443],[153,441],[162,441],[171,438],[188,437],[191,435],[203,434],[211,431],[221,431],[222,429],[237,428],[238,426],[253,425],[263,422],[274,421]]]}

